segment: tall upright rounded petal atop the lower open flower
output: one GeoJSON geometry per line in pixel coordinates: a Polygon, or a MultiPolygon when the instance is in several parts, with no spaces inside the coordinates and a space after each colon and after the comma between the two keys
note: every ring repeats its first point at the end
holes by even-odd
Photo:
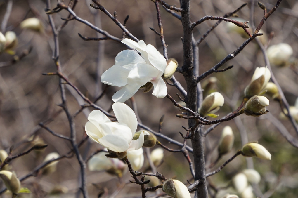
{"type": "Polygon", "coordinates": [[[131,129],[133,136],[136,132],[136,128],[138,127],[138,120],[136,119],[134,111],[121,102],[114,103],[112,107],[118,122],[126,124],[131,129]]]}

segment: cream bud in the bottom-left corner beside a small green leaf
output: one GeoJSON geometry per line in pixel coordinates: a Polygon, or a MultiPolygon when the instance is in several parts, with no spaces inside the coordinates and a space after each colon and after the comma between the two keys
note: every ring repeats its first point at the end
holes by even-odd
{"type": "Polygon", "coordinates": [[[21,189],[21,183],[15,172],[10,171],[0,171],[0,177],[3,180],[6,188],[13,194],[18,194],[21,189]]]}

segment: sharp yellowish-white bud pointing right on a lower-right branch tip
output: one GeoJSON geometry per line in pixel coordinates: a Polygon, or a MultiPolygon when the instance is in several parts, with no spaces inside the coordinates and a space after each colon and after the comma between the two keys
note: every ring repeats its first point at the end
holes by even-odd
{"type": "Polygon", "coordinates": [[[242,147],[241,154],[245,157],[257,157],[264,160],[271,160],[271,154],[264,146],[257,143],[248,143],[242,147]]]}

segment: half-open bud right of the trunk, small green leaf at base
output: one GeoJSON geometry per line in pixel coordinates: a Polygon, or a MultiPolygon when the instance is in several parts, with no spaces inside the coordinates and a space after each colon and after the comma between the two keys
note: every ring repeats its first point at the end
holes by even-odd
{"type": "MultiPolygon", "coordinates": [[[[215,117],[213,113],[217,112],[220,107],[224,105],[224,96],[219,92],[213,92],[202,102],[202,107],[199,109],[201,116],[212,116],[215,117]]],[[[217,117],[217,116],[216,116],[217,117]]]]}

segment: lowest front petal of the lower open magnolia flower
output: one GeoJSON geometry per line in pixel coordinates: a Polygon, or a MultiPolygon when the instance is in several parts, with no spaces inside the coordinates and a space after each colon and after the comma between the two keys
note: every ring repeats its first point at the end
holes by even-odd
{"type": "Polygon", "coordinates": [[[102,138],[98,139],[98,142],[106,147],[107,149],[122,153],[128,149],[128,143],[119,135],[105,135],[102,138]]]}

